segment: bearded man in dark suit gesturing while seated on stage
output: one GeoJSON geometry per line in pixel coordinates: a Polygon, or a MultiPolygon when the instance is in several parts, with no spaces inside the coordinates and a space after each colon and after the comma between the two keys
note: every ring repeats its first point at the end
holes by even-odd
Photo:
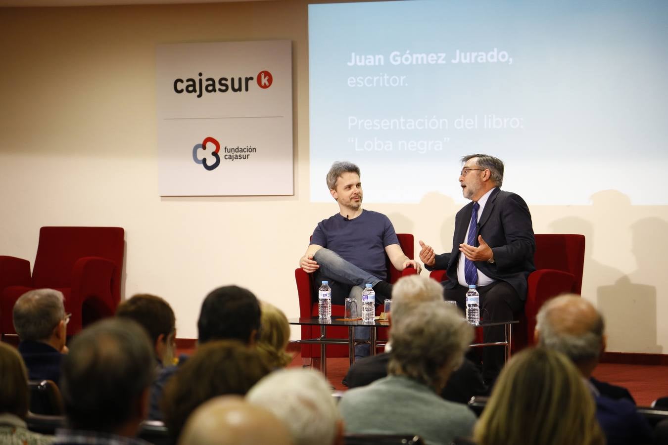
{"type": "MultiPolygon", "coordinates": [[[[536,270],[536,242],[531,213],[524,199],[502,191],[504,164],[490,155],[462,157],[459,181],[471,203],[458,211],[452,252],[436,255],[420,241],[420,260],[428,270],[446,270],[443,282],[446,300],[464,309],[466,291],[476,285],[483,320],[513,320],[524,308],[526,279],[536,270]]],[[[501,342],[503,326],[484,329],[486,342],[501,342]]],[[[488,384],[504,364],[504,350],[486,347],[482,352],[482,374],[488,384]]]]}

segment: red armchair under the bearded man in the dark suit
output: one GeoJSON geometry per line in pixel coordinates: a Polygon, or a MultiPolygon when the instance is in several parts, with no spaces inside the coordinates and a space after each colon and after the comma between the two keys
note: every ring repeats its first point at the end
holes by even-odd
{"type": "MultiPolygon", "coordinates": [[[[559,294],[580,294],[585,265],[585,236],[536,234],[536,270],[529,275],[524,313],[512,326],[512,352],[534,344],[536,314],[540,306],[559,294]]],[[[435,270],[431,278],[442,282],[446,271],[435,270]]]]}

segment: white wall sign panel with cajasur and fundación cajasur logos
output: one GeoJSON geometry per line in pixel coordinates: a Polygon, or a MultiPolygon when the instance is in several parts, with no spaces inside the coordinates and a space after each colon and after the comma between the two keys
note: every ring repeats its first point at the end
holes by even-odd
{"type": "Polygon", "coordinates": [[[162,196],[292,195],[291,42],[158,45],[162,196]]]}

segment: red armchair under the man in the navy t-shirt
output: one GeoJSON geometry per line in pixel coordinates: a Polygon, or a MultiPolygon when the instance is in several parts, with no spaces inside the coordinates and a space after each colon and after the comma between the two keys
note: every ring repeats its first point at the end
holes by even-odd
{"type": "MultiPolygon", "coordinates": [[[[397,234],[399,238],[399,246],[408,258],[413,258],[413,236],[411,234],[397,234]]],[[[387,270],[389,270],[389,282],[394,283],[401,276],[413,275],[416,271],[413,268],[407,268],[399,271],[394,268],[387,260],[387,270]]],[[[299,295],[299,316],[312,317],[318,315],[318,299],[313,294],[313,278],[311,274],[307,274],[301,268],[295,269],[295,281],[297,282],[297,294],[299,295]]],[[[343,317],[343,306],[340,304],[332,305],[332,317],[343,317]]],[[[376,308],[376,314],[379,315],[383,311],[382,306],[376,308]]],[[[327,338],[348,338],[347,328],[327,328],[327,338]]],[[[318,338],[320,336],[320,326],[302,326],[301,338],[318,338]]],[[[387,340],[387,329],[378,330],[378,340],[387,340]]],[[[327,345],[327,357],[347,357],[348,346],[346,345],[327,345]]],[[[312,358],[320,357],[320,346],[303,344],[301,345],[301,357],[312,358]]]]}

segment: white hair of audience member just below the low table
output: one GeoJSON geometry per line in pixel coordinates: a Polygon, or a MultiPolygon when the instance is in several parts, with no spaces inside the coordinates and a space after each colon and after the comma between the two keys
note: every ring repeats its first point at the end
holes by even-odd
{"type": "Polygon", "coordinates": [[[392,289],[392,323],[397,323],[422,303],[443,302],[443,286],[426,276],[399,278],[392,289]]]}

